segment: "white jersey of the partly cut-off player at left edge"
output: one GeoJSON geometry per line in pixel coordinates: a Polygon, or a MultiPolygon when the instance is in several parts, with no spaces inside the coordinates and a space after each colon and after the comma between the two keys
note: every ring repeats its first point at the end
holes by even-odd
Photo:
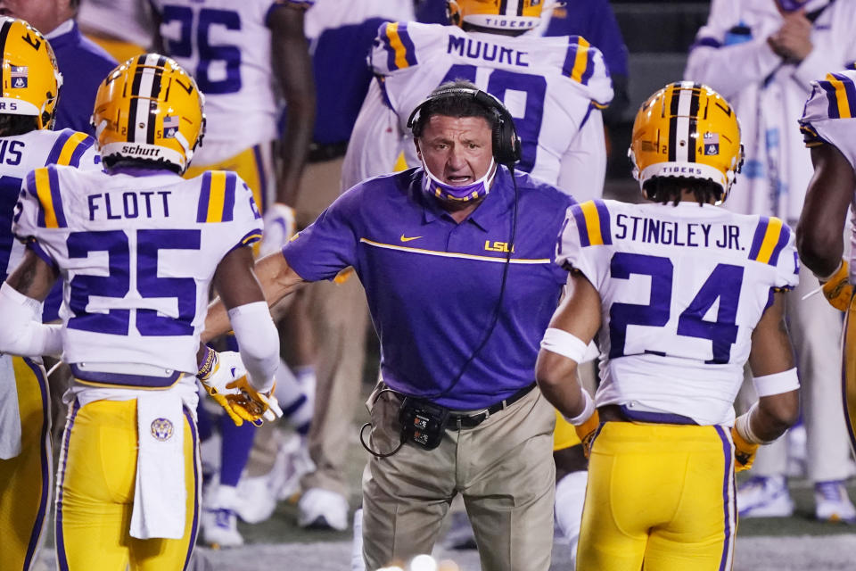
{"type": "Polygon", "coordinates": [[[95,139],[70,128],[0,137],[0,282],[23,257],[23,244],[12,236],[12,216],[24,178],[30,170],[49,164],[102,169],[95,139]]]}

